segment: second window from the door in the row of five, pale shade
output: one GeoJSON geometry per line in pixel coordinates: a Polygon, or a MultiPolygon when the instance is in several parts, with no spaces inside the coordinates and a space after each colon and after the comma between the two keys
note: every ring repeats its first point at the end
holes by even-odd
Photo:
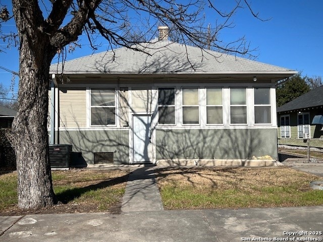
{"type": "Polygon", "coordinates": [[[199,89],[182,88],[183,125],[199,124],[199,89]]]}

